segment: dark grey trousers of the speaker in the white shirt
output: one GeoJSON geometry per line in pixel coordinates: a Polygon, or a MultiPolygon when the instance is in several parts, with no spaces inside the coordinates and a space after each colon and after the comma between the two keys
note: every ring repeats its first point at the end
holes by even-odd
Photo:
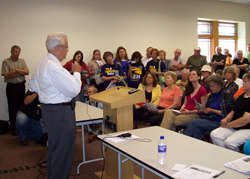
{"type": "Polygon", "coordinates": [[[68,179],[75,148],[76,121],[71,106],[42,105],[48,131],[48,179],[68,179]]]}

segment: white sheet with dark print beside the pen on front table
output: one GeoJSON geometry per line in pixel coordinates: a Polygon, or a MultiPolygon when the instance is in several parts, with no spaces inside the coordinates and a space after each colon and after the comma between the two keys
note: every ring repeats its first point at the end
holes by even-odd
{"type": "Polygon", "coordinates": [[[179,179],[210,179],[221,171],[202,167],[200,165],[192,165],[172,176],[179,179]]]}

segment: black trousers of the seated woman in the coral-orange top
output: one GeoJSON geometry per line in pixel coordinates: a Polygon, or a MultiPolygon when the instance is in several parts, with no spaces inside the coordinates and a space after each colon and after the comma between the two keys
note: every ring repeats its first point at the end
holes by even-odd
{"type": "MultiPolygon", "coordinates": [[[[158,106],[157,109],[161,110],[165,108],[158,106]]],[[[151,126],[159,126],[163,116],[164,113],[158,114],[157,112],[148,111],[143,114],[143,120],[147,123],[150,123],[151,126]]]]}

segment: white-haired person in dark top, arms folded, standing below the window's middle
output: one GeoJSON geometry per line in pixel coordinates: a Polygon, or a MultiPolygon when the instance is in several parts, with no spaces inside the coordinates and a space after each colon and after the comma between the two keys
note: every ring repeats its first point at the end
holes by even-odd
{"type": "Polygon", "coordinates": [[[226,63],[226,56],[221,53],[222,49],[220,46],[215,48],[216,54],[213,55],[211,62],[215,63],[215,71],[223,70],[226,63]]]}

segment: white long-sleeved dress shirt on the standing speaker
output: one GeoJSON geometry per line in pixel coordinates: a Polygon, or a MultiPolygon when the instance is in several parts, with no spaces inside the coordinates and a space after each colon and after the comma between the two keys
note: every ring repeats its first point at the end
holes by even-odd
{"type": "Polygon", "coordinates": [[[71,101],[79,94],[81,84],[80,73],[71,75],[54,55],[48,53],[37,64],[29,89],[38,92],[41,103],[56,104],[71,101]]]}

